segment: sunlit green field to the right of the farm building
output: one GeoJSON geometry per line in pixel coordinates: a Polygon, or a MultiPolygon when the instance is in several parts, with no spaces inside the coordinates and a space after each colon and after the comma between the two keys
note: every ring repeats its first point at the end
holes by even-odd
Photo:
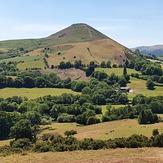
{"type": "Polygon", "coordinates": [[[159,96],[163,95],[163,85],[155,86],[154,90],[149,90],[146,87],[146,80],[137,78],[130,78],[131,83],[127,84],[127,87],[133,89],[132,93],[128,93],[128,97],[132,99],[137,94],[143,94],[145,96],[159,96]]]}

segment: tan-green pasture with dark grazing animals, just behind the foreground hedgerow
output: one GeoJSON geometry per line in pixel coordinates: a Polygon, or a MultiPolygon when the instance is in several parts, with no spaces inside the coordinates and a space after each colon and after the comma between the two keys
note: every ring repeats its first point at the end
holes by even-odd
{"type": "Polygon", "coordinates": [[[61,135],[64,135],[65,131],[73,129],[77,131],[75,137],[79,140],[84,138],[107,140],[110,138],[129,137],[132,134],[143,134],[150,137],[152,130],[156,128],[163,133],[163,123],[139,125],[136,119],[118,120],[88,126],[76,123],[52,123],[51,125],[42,126],[42,128],[47,128],[42,134],[59,133],[61,135]]]}

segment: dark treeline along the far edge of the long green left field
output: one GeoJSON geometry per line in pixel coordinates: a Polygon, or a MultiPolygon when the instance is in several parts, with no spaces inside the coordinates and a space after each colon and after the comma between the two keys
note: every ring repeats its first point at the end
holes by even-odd
{"type": "MultiPolygon", "coordinates": [[[[15,88],[68,88],[77,92],[81,92],[83,88],[89,86],[93,89],[93,86],[100,82],[102,85],[114,86],[126,86],[129,82],[129,75],[123,75],[121,77],[116,76],[114,73],[107,75],[105,72],[95,71],[92,73],[92,79],[90,82],[85,81],[72,81],[71,78],[61,80],[57,74],[41,74],[39,71],[22,72],[15,78],[6,77],[0,75],[0,88],[15,87],[15,88]],[[96,80],[94,80],[94,78],[96,80]],[[91,86],[93,84],[93,86],[91,86]]],[[[115,89],[114,89],[115,90],[115,89]]]]}

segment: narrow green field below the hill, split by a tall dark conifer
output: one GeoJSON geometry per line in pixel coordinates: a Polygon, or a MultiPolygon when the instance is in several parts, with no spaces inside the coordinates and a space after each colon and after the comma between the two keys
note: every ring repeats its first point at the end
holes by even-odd
{"type": "MultiPolygon", "coordinates": [[[[111,75],[112,73],[115,73],[118,76],[123,75],[123,68],[96,68],[96,71],[104,71],[108,75],[111,75]]],[[[130,75],[131,73],[140,73],[140,72],[136,71],[135,69],[127,68],[127,74],[130,75]]]]}

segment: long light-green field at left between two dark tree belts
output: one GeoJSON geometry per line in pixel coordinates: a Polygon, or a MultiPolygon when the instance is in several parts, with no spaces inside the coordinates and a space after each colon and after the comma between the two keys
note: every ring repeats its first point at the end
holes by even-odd
{"type": "Polygon", "coordinates": [[[72,93],[74,95],[79,94],[70,89],[60,88],[4,88],[0,89],[0,97],[8,98],[12,96],[27,97],[29,99],[35,99],[45,95],[59,96],[63,93],[72,93]]]}

